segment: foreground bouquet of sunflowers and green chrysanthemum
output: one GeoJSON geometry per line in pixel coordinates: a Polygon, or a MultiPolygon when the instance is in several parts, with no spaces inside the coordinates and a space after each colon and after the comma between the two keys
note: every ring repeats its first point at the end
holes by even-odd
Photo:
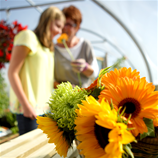
{"type": "MultiPolygon", "coordinates": [[[[85,158],[133,158],[144,152],[140,141],[156,139],[158,92],[154,85],[140,78],[137,70],[109,70],[101,70],[88,88],[60,84],[49,100],[50,113],[37,117],[38,128],[60,156],[66,157],[76,140],[85,158]]],[[[155,154],[153,150],[147,157],[155,154]]]]}

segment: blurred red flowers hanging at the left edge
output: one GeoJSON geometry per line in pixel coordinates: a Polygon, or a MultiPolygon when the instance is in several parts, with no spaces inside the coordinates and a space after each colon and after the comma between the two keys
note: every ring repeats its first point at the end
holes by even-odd
{"type": "Polygon", "coordinates": [[[0,68],[4,67],[5,62],[10,61],[14,36],[25,29],[27,26],[23,27],[17,21],[12,24],[7,24],[4,20],[0,21],[0,68]]]}

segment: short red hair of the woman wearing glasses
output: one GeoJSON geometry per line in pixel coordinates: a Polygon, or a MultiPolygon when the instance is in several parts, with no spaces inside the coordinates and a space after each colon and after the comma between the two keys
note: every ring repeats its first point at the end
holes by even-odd
{"type": "Polygon", "coordinates": [[[62,11],[65,17],[72,19],[77,26],[81,24],[82,14],[78,8],[73,5],[70,5],[69,7],[65,7],[62,11]]]}

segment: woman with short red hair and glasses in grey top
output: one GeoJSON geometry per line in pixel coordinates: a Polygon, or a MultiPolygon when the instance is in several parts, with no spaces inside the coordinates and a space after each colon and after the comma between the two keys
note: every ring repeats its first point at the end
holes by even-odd
{"type": "Polygon", "coordinates": [[[65,7],[63,13],[66,17],[66,23],[62,33],[68,35],[66,41],[74,61],[63,44],[55,45],[55,82],[57,87],[61,82],[69,81],[72,85],[80,85],[77,73],[80,73],[82,87],[88,87],[92,79],[95,79],[99,73],[99,66],[94,56],[90,43],[76,36],[82,22],[82,14],[75,6],[65,7]]]}

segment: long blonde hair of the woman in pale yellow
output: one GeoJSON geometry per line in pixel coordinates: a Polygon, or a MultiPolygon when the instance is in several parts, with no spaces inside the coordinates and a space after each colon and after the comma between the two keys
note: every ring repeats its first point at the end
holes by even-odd
{"type": "Polygon", "coordinates": [[[40,43],[43,46],[49,48],[50,51],[53,51],[54,49],[50,30],[51,23],[54,20],[62,20],[63,22],[65,22],[65,16],[60,9],[51,6],[41,14],[39,23],[34,30],[40,43]]]}

